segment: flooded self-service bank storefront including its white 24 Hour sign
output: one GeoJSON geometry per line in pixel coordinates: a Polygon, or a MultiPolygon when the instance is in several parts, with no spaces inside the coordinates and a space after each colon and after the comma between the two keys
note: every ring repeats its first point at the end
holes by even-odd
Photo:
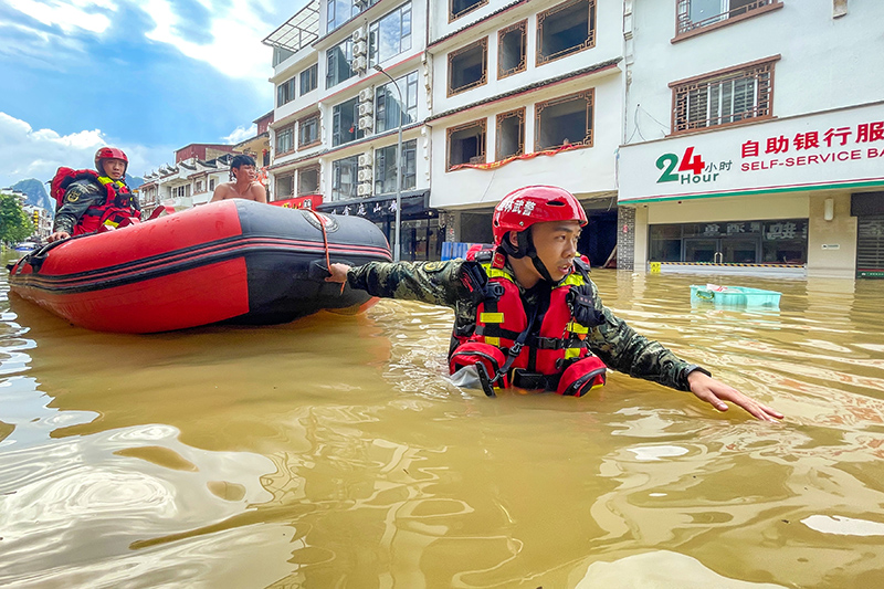
{"type": "Polygon", "coordinates": [[[661,272],[873,276],[881,189],[884,103],[628,145],[620,255],[661,272]]]}

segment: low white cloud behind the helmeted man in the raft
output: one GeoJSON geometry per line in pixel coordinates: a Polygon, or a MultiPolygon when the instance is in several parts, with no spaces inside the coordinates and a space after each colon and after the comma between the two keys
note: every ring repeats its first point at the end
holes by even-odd
{"type": "MultiPolygon", "coordinates": [[[[52,179],[60,166],[92,168],[95,151],[110,141],[101,129],[60,135],[52,129],[34,130],[27,122],[0,112],[0,187],[25,178],[52,179]]],[[[156,169],[172,155],[172,147],[114,144],[129,158],[129,173],[140,176],[156,169]]]]}

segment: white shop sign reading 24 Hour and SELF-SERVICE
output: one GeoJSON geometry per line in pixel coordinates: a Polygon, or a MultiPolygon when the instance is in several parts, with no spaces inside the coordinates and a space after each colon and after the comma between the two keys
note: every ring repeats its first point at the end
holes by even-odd
{"type": "Polygon", "coordinates": [[[884,185],[884,104],[630,145],[620,200],[884,185]]]}

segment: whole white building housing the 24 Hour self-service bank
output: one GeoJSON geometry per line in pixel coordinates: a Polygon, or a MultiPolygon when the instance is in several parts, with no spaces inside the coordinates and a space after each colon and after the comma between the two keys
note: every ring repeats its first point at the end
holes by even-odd
{"type": "Polygon", "coordinates": [[[884,275],[882,21],[882,2],[628,0],[620,265],[884,275]]]}

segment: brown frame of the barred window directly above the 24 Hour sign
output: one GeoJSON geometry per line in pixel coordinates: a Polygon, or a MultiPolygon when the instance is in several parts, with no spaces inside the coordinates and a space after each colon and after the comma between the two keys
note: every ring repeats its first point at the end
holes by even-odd
{"type": "MultiPolygon", "coordinates": [[[[669,84],[670,88],[672,88],[672,118],[670,120],[670,136],[673,135],[685,135],[688,133],[697,133],[707,129],[720,129],[726,127],[733,127],[736,125],[746,125],[748,123],[757,122],[757,120],[767,120],[774,118],[774,82],[775,82],[775,65],[779,61],[780,55],[772,55],[770,57],[765,57],[762,60],[756,60],[754,62],[743,63],[739,65],[735,65],[732,67],[725,67],[722,70],[716,70],[714,72],[709,72],[706,74],[702,74],[698,76],[687,77],[684,80],[678,80],[675,82],[671,82],[669,84]],[[755,116],[743,116],[739,120],[730,120],[727,123],[719,123],[716,125],[705,125],[705,126],[697,126],[694,122],[693,124],[690,120],[690,105],[682,105],[680,102],[680,94],[684,93],[687,94],[690,97],[690,92],[699,87],[701,85],[705,85],[707,88],[711,88],[711,84],[718,82],[724,83],[728,80],[736,80],[737,77],[735,74],[739,73],[748,73],[754,72],[755,76],[753,80],[755,81],[755,90],[754,93],[756,94],[755,105],[753,106],[753,112],[764,112],[761,114],[757,114],[755,116]],[[767,99],[766,106],[761,106],[765,101],[761,99],[760,96],[760,83],[759,83],[759,74],[767,74],[767,99]],[[680,114],[684,114],[684,124],[680,123],[680,114]],[[692,126],[693,125],[693,126],[692,126]]],[[[748,76],[744,76],[748,77],[748,76]]],[[[708,105],[708,98],[707,98],[708,105]]],[[[745,113],[745,111],[743,112],[745,113]]],[[[730,117],[736,116],[737,114],[732,113],[730,117]]],[[[719,116],[717,118],[723,118],[719,116]]],[[[709,118],[705,119],[705,123],[708,123],[709,118]]]]}

